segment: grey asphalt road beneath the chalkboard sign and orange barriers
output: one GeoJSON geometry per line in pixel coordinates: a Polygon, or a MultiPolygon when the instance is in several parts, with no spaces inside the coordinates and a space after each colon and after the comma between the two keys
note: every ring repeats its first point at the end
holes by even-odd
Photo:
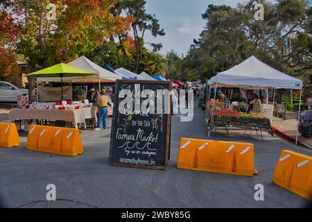
{"type": "Polygon", "coordinates": [[[177,169],[180,137],[207,139],[205,113],[195,108],[191,122],[173,117],[168,171],[110,167],[110,130],[83,130],[85,152],[65,157],[28,151],[22,146],[0,148],[0,200],[4,207],[309,207],[310,202],[272,184],[282,149],[306,155],[312,150],[279,137],[243,136],[221,132],[211,139],[254,143],[254,177],[177,169]],[[46,201],[46,185],[56,186],[56,201],[46,201]],[[264,201],[254,200],[254,185],[264,186],[264,201]]]}

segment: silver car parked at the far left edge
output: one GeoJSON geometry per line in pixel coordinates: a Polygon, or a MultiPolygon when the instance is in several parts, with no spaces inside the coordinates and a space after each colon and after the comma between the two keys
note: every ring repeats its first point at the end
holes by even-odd
{"type": "Polygon", "coordinates": [[[19,89],[11,83],[0,81],[0,102],[17,103],[17,96],[28,94],[28,89],[19,89]]]}

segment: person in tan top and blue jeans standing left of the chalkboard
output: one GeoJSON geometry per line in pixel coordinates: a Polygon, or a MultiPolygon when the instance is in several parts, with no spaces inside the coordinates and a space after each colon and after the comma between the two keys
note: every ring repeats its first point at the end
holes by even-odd
{"type": "Polygon", "coordinates": [[[106,129],[106,126],[107,126],[107,123],[106,123],[107,105],[110,105],[110,102],[107,101],[107,96],[105,94],[106,94],[105,89],[102,89],[101,96],[98,97],[98,101],[97,101],[99,112],[98,112],[98,127],[94,129],[96,131],[106,129]],[[103,121],[103,128],[101,126],[102,121],[103,121]]]}

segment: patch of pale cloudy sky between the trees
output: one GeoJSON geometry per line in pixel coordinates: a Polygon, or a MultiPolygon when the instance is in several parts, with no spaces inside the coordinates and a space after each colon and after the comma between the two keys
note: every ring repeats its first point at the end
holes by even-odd
{"type": "MultiPolygon", "coordinates": [[[[235,7],[244,0],[146,0],[146,11],[156,14],[166,35],[155,38],[146,34],[146,42],[162,43],[160,53],[174,50],[186,54],[193,39],[197,39],[205,26],[202,14],[209,4],[235,7]]],[[[312,0],[310,1],[312,3],[312,0]]]]}

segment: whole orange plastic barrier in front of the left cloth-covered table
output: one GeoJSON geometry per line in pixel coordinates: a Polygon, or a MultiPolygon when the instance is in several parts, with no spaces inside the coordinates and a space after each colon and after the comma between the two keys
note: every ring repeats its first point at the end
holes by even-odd
{"type": "Polygon", "coordinates": [[[31,125],[26,148],[69,156],[83,153],[83,143],[78,129],[55,126],[31,125]]]}

